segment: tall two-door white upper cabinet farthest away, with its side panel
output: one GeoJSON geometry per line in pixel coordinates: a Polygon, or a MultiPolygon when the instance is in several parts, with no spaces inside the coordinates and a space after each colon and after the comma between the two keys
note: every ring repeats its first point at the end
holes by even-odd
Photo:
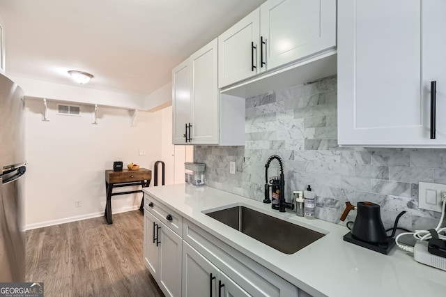
{"type": "Polygon", "coordinates": [[[218,91],[217,38],[172,70],[173,144],[245,145],[245,99],[218,91]]]}

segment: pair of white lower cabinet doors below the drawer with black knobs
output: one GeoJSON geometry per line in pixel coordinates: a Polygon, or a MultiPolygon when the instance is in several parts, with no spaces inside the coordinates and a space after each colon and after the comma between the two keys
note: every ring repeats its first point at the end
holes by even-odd
{"type": "Polygon", "coordinates": [[[166,296],[181,296],[182,238],[144,211],[144,262],[166,296]]]}

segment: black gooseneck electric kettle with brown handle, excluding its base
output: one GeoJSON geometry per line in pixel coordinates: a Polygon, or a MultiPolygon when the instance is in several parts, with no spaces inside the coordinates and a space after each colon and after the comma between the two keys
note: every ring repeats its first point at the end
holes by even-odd
{"type": "Polygon", "coordinates": [[[392,238],[397,231],[398,221],[401,215],[406,213],[402,211],[395,220],[392,235],[387,236],[385,233],[383,221],[380,215],[380,206],[369,201],[362,201],[357,203],[357,207],[350,202],[346,202],[346,209],[341,215],[341,221],[347,218],[348,213],[357,208],[357,215],[353,223],[351,234],[360,241],[368,243],[387,243],[389,238],[392,238]]]}

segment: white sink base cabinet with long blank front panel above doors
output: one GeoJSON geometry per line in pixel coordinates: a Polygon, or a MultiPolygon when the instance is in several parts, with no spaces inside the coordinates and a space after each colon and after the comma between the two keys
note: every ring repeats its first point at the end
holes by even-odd
{"type": "Polygon", "coordinates": [[[299,289],[293,284],[272,273],[245,254],[231,248],[215,236],[208,234],[192,222],[183,220],[183,296],[194,296],[187,294],[187,283],[189,286],[191,284],[195,286],[189,288],[190,292],[193,292],[192,288],[199,286],[207,289],[203,295],[195,296],[211,296],[210,289],[217,292],[212,296],[219,297],[299,296],[299,289]],[[189,273],[188,269],[193,271],[193,276],[185,276],[185,273],[189,273]],[[212,283],[210,273],[213,275],[218,273],[218,277],[212,280],[212,283]],[[189,277],[190,280],[188,280],[189,277]]]}

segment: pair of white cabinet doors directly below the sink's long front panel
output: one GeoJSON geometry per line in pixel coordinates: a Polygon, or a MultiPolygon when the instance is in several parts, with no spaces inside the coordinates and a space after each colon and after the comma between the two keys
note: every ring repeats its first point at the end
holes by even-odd
{"type": "Polygon", "coordinates": [[[183,296],[251,296],[183,241],[183,296]]]}

